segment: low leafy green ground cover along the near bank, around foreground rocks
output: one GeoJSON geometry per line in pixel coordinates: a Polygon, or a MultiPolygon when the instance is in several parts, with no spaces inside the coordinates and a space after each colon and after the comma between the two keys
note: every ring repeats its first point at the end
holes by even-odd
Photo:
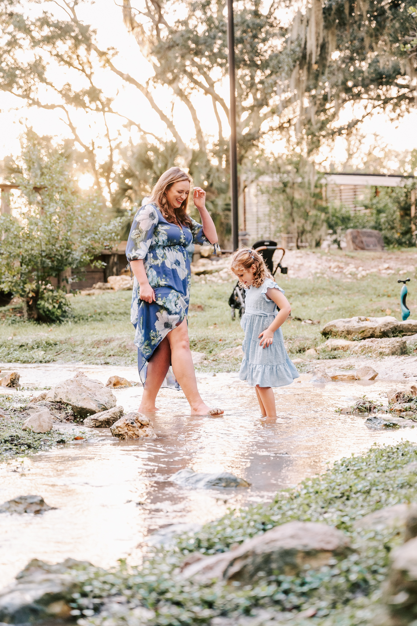
{"type": "Polygon", "coordinates": [[[220,616],[230,618],[219,622],[229,626],[259,610],[264,620],[257,621],[258,626],[266,624],[268,616],[294,625],[369,624],[379,610],[389,553],[402,536],[398,528],[361,531],[354,523],[380,508],[416,500],[417,476],[409,467],[416,460],[417,448],[408,442],[374,446],[365,454],[341,459],[295,490],[279,492],[272,503],[232,510],[198,533],[178,538],[174,548],[155,549],[138,567],[126,567],[123,561],[116,570],[82,567],[73,572],[76,592],[68,597],[72,614],[80,626],[185,626],[214,623],[220,616]],[[260,573],[259,580],[243,588],[196,583],[178,575],[178,565],[192,552],[225,552],[291,520],[336,526],[349,536],[351,554],[294,576],[260,573]],[[306,611],[309,620],[304,622],[306,611]]]}

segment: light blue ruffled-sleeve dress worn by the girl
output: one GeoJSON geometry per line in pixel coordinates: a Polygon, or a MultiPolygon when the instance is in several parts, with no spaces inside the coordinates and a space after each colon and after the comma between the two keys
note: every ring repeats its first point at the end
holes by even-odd
{"type": "Polygon", "coordinates": [[[267,329],[278,313],[277,305],[266,295],[267,289],[279,289],[284,294],[284,290],[272,279],[266,279],[260,287],[252,285],[245,289],[245,312],[240,322],[245,331],[242,344],[244,357],[239,378],[251,387],[283,387],[299,377],[284,347],[281,328],[274,332],[271,346],[263,348],[259,345],[259,334],[267,329]]]}

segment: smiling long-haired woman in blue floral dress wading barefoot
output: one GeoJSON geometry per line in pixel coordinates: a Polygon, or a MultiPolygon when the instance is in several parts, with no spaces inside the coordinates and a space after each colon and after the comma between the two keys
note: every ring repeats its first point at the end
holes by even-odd
{"type": "Polygon", "coordinates": [[[191,243],[217,243],[202,188],[194,187],[193,193],[202,224],[187,215],[191,183],[179,167],[164,172],[148,204],[136,213],[126,247],[135,275],[130,319],[136,328],[138,369],[144,387],[140,413],[157,410],[155,399],[170,364],[192,415],[223,413],[222,409],[210,409],[198,393],[188,340],[191,275],[185,249],[191,243]]]}

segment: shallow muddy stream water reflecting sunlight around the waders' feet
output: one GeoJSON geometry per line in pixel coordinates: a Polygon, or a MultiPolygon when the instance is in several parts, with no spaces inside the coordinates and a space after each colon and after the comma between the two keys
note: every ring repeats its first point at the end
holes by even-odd
{"type": "MultiPolygon", "coordinates": [[[[22,384],[44,386],[73,376],[80,366],[19,364],[1,369],[2,374],[19,371],[22,384]]],[[[133,367],[81,369],[103,382],[113,374],[138,379],[133,367]]],[[[157,439],[117,441],[107,429],[95,430],[97,436],[86,442],[0,465],[0,503],[37,494],[56,507],[39,517],[0,515],[0,585],[10,582],[31,558],[58,562],[73,557],[103,567],[115,565],[118,558],[137,562],[146,537],[158,528],[204,523],[230,506],[269,501],[277,490],[374,442],[417,441],[417,428],[371,430],[364,418],[334,412],[364,393],[381,401],[389,381],[366,387],[361,382],[314,386],[310,377],[302,375],[301,382],[277,389],[279,416],[262,419],[254,392],[237,374],[198,374],[200,393],[212,406],[225,409],[222,418],[190,418],[182,393],[166,389],[158,396],[157,439]],[[223,492],[182,488],[169,478],[185,467],[227,470],[251,487],[223,492]]],[[[115,390],[125,411],[137,408],[141,394],[141,387],[115,390]]]]}

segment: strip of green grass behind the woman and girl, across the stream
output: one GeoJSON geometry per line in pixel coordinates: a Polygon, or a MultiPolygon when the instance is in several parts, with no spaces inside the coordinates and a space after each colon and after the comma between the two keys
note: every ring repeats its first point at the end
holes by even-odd
{"type": "MultiPolygon", "coordinates": [[[[384,316],[400,319],[399,285],[396,275],[368,275],[360,280],[288,279],[280,277],[292,305],[291,319],[283,327],[290,354],[296,355],[324,341],[320,328],[338,317],[384,316]],[[389,313],[388,313],[389,312],[389,313]],[[311,319],[320,324],[303,324],[311,319]]],[[[192,350],[207,355],[209,369],[233,369],[232,362],[211,362],[219,352],[239,346],[242,330],[239,319],[232,321],[227,304],[233,283],[192,285],[189,334],[192,350]]],[[[409,287],[411,318],[417,308],[417,291],[409,287]]],[[[73,362],[133,365],[136,348],[130,324],[130,292],[103,292],[103,295],[71,299],[73,316],[63,324],[45,325],[5,317],[0,322],[1,362],[73,362]]],[[[6,309],[0,309],[0,319],[6,309]]]]}

